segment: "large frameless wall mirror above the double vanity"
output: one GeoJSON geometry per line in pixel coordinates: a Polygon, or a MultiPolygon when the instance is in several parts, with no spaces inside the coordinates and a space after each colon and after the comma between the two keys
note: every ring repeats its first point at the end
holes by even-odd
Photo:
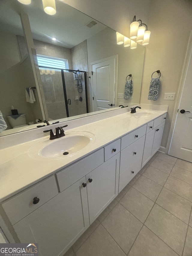
{"type": "Polygon", "coordinates": [[[0,110],[7,123],[0,136],[37,128],[37,119],[52,124],[140,102],[145,48],[117,45],[113,29],[59,0],[55,4],[56,14],[48,15],[41,0],[0,2],[0,110]],[[35,73],[20,13],[29,17],[35,73]],[[126,79],[133,85],[128,99],[126,79]],[[32,89],[36,100],[29,103],[26,88],[36,86],[41,95],[32,89]],[[11,106],[24,114],[26,126],[11,124],[11,106]]]}

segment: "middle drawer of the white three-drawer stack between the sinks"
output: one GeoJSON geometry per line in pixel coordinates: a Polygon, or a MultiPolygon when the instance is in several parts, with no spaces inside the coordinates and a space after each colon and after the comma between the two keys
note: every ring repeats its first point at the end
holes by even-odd
{"type": "Polygon", "coordinates": [[[142,161],[144,143],[145,143],[145,135],[121,151],[120,170],[119,170],[120,174],[123,171],[125,171],[131,163],[137,163],[140,160],[142,161]]]}

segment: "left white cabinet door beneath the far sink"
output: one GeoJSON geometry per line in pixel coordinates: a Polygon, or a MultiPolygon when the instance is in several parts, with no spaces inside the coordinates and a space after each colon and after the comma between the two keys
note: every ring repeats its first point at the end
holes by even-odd
{"type": "Polygon", "coordinates": [[[143,166],[151,158],[154,135],[155,135],[155,129],[153,129],[152,131],[150,131],[149,133],[146,134],[145,146],[144,146],[144,151],[143,151],[143,160],[142,160],[141,168],[143,168],[143,166]]]}

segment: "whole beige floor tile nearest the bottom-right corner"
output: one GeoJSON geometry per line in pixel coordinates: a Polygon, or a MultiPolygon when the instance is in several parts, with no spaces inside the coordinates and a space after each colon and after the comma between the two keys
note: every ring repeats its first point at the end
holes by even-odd
{"type": "Polygon", "coordinates": [[[182,255],[187,224],[155,204],[145,225],[176,253],[182,255]]]}

